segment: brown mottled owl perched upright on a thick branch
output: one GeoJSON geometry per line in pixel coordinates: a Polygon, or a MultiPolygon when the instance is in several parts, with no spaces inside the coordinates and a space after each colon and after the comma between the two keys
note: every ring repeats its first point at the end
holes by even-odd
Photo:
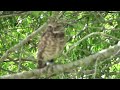
{"type": "Polygon", "coordinates": [[[65,46],[64,27],[59,23],[48,24],[38,44],[38,68],[43,68],[47,62],[54,61],[63,51],[65,46]]]}

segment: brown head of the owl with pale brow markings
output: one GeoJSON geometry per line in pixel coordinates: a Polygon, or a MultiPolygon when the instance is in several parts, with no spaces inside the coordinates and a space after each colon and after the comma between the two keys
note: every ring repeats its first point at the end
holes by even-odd
{"type": "Polygon", "coordinates": [[[64,32],[64,27],[60,23],[50,23],[48,24],[48,30],[52,31],[53,33],[62,33],[64,32]]]}

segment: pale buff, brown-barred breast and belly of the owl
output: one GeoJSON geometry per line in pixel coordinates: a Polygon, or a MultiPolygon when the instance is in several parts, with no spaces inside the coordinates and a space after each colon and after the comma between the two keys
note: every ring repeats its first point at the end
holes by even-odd
{"type": "Polygon", "coordinates": [[[45,61],[54,59],[60,55],[64,48],[64,38],[48,38],[42,57],[45,61]]]}

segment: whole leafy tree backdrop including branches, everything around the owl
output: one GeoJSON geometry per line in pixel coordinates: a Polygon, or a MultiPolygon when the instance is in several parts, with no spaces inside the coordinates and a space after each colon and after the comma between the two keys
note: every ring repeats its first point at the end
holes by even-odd
{"type": "Polygon", "coordinates": [[[120,78],[119,17],[118,11],[0,11],[0,78],[120,78]],[[37,69],[37,45],[55,19],[64,23],[64,50],[55,64],[37,69]]]}

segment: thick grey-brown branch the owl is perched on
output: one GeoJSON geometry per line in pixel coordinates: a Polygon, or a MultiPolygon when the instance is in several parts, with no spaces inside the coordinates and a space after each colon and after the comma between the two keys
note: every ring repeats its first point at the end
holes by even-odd
{"type": "Polygon", "coordinates": [[[12,75],[4,75],[1,76],[0,79],[27,79],[31,77],[36,77],[36,78],[48,77],[53,74],[69,71],[79,66],[88,66],[90,65],[90,63],[95,63],[96,60],[104,60],[106,58],[109,58],[112,55],[118,53],[119,51],[120,51],[120,42],[117,45],[111,46],[108,49],[104,49],[94,55],[90,55],[78,61],[74,61],[64,65],[48,66],[43,69],[35,69],[32,71],[26,71],[12,75]]]}

